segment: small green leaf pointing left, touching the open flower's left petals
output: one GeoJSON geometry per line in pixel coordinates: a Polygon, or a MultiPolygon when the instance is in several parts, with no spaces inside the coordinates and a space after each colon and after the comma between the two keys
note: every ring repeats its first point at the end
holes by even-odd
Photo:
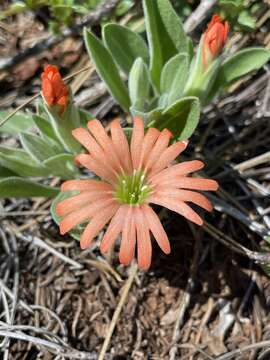
{"type": "Polygon", "coordinates": [[[79,171],[74,165],[74,156],[71,154],[58,154],[43,162],[52,175],[62,179],[73,179],[78,177],[79,171]]]}

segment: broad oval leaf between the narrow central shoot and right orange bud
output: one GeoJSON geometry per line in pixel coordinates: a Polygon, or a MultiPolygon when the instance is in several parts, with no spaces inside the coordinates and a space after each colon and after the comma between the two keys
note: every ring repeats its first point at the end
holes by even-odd
{"type": "Polygon", "coordinates": [[[177,54],[171,58],[162,69],[160,89],[167,93],[167,105],[180,99],[188,78],[188,55],[177,54]]]}

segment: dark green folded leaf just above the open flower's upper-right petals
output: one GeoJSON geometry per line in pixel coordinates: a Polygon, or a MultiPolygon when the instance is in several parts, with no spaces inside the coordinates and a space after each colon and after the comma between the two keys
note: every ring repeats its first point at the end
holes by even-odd
{"type": "Polygon", "coordinates": [[[165,109],[154,125],[158,129],[169,129],[177,140],[186,140],[195,131],[200,118],[200,101],[196,97],[185,97],[165,109]]]}

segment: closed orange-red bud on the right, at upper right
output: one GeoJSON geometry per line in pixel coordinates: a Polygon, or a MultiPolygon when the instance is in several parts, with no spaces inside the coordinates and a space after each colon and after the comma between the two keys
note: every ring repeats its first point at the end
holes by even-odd
{"type": "Polygon", "coordinates": [[[229,24],[222,23],[218,15],[213,15],[203,39],[203,64],[207,68],[209,63],[222,51],[228,37],[229,24]]]}

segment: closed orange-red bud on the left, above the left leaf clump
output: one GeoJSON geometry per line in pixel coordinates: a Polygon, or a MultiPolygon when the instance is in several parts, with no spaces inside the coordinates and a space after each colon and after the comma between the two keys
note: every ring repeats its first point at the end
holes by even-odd
{"type": "Polygon", "coordinates": [[[68,88],[65,85],[57,66],[46,65],[41,74],[42,94],[49,106],[59,105],[61,112],[68,104],[68,88]]]}

